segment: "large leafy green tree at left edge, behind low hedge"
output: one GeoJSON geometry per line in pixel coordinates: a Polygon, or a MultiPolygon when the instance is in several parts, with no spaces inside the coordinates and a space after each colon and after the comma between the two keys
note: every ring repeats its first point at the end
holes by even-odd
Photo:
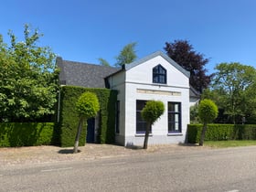
{"type": "Polygon", "coordinates": [[[26,25],[24,41],[10,31],[10,44],[0,36],[0,122],[31,122],[53,114],[59,90],[55,54],[37,46],[37,30],[26,25]],[[9,45],[9,46],[7,46],[9,45]]]}

